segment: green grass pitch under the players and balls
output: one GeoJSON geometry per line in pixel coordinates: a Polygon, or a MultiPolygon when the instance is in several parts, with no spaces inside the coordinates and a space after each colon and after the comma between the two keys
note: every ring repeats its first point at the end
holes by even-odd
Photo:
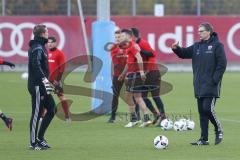
{"type": "MultiPolygon", "coordinates": [[[[83,73],[74,73],[67,83],[89,85],[82,80],[83,73]]],[[[30,97],[27,81],[20,73],[0,73],[0,109],[14,118],[13,131],[9,132],[0,122],[0,160],[239,160],[240,158],[240,101],[239,73],[226,73],[222,85],[221,99],[216,111],[224,129],[224,141],[215,146],[214,132],[210,125],[210,145],[191,146],[199,138],[199,121],[196,101],[193,97],[192,73],[167,73],[163,80],[173,85],[173,90],[162,96],[167,113],[187,114],[192,111],[196,122],[193,131],[163,131],[159,127],[124,128],[124,118],[108,124],[108,116],[85,122],[66,123],[57,117],[47,131],[47,141],[52,147],[47,151],[32,151],[29,146],[28,125],[30,119],[30,97]],[[153,147],[155,136],[163,134],[169,139],[166,150],[153,147]]],[[[66,95],[67,96],[67,95],[66,95]]],[[[71,112],[84,112],[90,108],[90,98],[67,96],[74,100],[71,112]]],[[[57,99],[56,99],[57,100],[57,99]]],[[[123,102],[120,112],[127,111],[123,102]]]]}

